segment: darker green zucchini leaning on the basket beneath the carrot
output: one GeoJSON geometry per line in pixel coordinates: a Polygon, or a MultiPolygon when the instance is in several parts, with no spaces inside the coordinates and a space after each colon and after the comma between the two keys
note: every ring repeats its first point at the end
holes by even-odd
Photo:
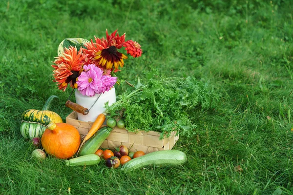
{"type": "Polygon", "coordinates": [[[81,147],[78,156],[84,156],[89,154],[95,154],[105,139],[110,135],[112,129],[109,127],[102,127],[97,131],[93,137],[85,141],[81,147]]]}

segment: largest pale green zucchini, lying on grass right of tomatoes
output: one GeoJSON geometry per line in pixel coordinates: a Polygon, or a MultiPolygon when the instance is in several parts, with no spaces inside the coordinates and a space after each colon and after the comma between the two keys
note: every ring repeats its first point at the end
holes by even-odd
{"type": "Polygon", "coordinates": [[[184,164],[186,160],[186,154],[182,151],[161,150],[133,158],[126,162],[121,170],[128,172],[148,165],[176,166],[184,164]]]}

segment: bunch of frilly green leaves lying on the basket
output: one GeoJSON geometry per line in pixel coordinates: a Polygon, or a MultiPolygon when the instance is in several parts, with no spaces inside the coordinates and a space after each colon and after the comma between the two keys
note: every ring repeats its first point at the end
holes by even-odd
{"type": "Polygon", "coordinates": [[[120,95],[111,106],[106,104],[105,113],[123,118],[129,132],[156,131],[163,138],[177,131],[180,136],[190,137],[196,125],[188,113],[214,107],[214,102],[213,92],[194,77],[153,75],[146,84],[138,79],[133,91],[120,95]]]}

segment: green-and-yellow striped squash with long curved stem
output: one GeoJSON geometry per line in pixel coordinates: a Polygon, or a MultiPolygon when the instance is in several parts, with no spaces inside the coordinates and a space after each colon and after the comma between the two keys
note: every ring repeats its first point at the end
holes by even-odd
{"type": "Polygon", "coordinates": [[[62,118],[55,112],[49,111],[48,108],[50,103],[57,96],[50,96],[45,105],[40,110],[26,110],[21,115],[21,135],[26,139],[33,139],[34,137],[42,137],[43,132],[46,129],[46,126],[50,122],[58,123],[63,122],[62,118]]]}

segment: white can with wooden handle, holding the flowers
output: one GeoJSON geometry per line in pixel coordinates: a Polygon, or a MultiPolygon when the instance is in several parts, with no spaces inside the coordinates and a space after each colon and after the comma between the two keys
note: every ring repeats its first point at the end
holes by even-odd
{"type": "Polygon", "coordinates": [[[98,115],[105,111],[104,106],[107,101],[109,101],[109,106],[116,102],[115,88],[112,87],[112,89],[110,89],[109,91],[101,94],[100,98],[97,100],[98,97],[99,94],[96,94],[93,97],[83,96],[80,91],[75,90],[76,103],[83,106],[84,108],[90,109],[87,115],[77,113],[77,117],[79,120],[94,122],[98,115]]]}

